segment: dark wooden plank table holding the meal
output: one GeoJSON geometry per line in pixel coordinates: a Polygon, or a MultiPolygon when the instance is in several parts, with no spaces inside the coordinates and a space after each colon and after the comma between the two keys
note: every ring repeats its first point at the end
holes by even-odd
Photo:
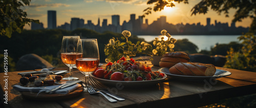
{"type": "MultiPolygon", "coordinates": [[[[150,65],[152,67],[152,65],[150,65]]],[[[152,67],[157,71],[160,67],[152,67]]],[[[219,102],[221,99],[256,93],[256,73],[226,69],[232,74],[217,80],[185,81],[167,77],[163,82],[152,87],[122,88],[108,87],[125,101],[110,103],[101,95],[90,95],[83,92],[81,96],[56,101],[35,101],[24,99],[14,90],[13,85],[19,82],[19,72],[0,73],[1,102],[5,107],[197,107],[219,102]],[[9,76],[9,77],[5,77],[9,76]],[[5,78],[8,78],[8,90],[5,90],[5,78]],[[3,100],[5,91],[8,93],[8,104],[3,100]]],[[[68,70],[68,67],[54,70],[68,70]]],[[[83,75],[74,70],[74,76],[84,80],[83,75]]],[[[0,105],[1,107],[1,105],[0,105]]]]}

